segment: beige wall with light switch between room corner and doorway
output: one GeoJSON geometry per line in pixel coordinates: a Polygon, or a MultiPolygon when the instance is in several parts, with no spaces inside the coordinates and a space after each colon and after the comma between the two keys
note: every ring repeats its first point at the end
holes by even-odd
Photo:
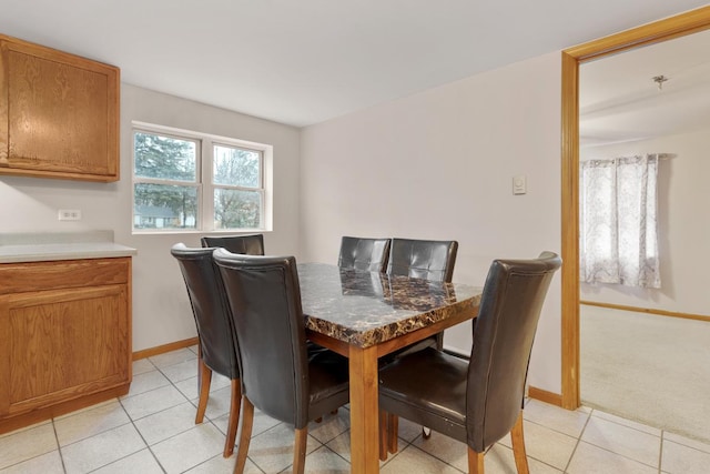
{"type": "MultiPolygon", "coordinates": [[[[560,251],[560,54],[546,54],[305,128],[303,258],[335,263],[344,234],[456,239],[454,280],[481,285],[496,258],[560,251]],[[513,177],[528,193],[513,195],[513,177]]],[[[529,381],[560,392],[552,283],[529,381]]],[[[470,324],[446,345],[470,349],[470,324]]]]}

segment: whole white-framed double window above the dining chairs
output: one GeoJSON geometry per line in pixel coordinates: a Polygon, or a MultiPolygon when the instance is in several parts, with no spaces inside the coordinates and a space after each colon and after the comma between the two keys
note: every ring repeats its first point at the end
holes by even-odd
{"type": "Polygon", "coordinates": [[[134,123],[133,230],[268,230],[271,157],[270,145],[134,123]]]}

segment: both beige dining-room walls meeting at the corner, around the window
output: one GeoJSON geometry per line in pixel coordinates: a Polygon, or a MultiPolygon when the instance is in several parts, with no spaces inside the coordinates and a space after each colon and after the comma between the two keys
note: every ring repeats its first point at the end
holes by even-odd
{"type": "MultiPolygon", "coordinates": [[[[274,231],[266,248],[335,263],[344,234],[456,239],[454,279],[483,284],[495,258],[560,251],[560,56],[549,53],[303,130],[123,84],[122,180],[0,181],[6,232],[112,229],[138,249],[134,350],[195,335],[170,246],[199,234],[131,235],[132,120],[274,145],[274,231]],[[528,193],[513,195],[513,177],[528,193]],[[81,209],[80,223],[57,209],[81,209]]],[[[467,352],[470,324],[448,331],[467,352]]],[[[534,386],[560,392],[559,275],[530,365],[534,386]]]]}

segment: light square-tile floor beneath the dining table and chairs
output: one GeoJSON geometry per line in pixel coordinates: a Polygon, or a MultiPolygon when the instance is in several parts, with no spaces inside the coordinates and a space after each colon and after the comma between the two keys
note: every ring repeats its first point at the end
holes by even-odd
{"type": "MultiPolygon", "coordinates": [[[[196,347],[136,361],[128,395],[0,435],[0,473],[231,473],[222,457],[230,384],[215,374],[206,420],[194,424],[196,347]]],[[[597,410],[566,411],[535,400],[524,411],[530,471],[709,473],[710,445],[597,410]]],[[[306,471],[349,472],[347,409],[308,426],[306,471]]],[[[384,474],[466,472],[466,446],[402,420],[399,452],[384,474]]],[[[291,472],[293,430],[256,413],[246,472],[291,472]]],[[[489,474],[515,473],[510,440],[485,457],[489,474]]]]}

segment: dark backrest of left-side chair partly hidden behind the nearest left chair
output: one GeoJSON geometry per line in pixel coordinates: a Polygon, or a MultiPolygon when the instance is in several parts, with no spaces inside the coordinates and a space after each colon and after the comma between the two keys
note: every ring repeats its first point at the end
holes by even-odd
{"type": "Polygon", "coordinates": [[[232,316],[220,270],[212,260],[213,251],[214,249],[190,249],[178,243],[170,253],[178,260],[187,288],[202,360],[214,372],[237,379],[240,372],[232,316]]]}

